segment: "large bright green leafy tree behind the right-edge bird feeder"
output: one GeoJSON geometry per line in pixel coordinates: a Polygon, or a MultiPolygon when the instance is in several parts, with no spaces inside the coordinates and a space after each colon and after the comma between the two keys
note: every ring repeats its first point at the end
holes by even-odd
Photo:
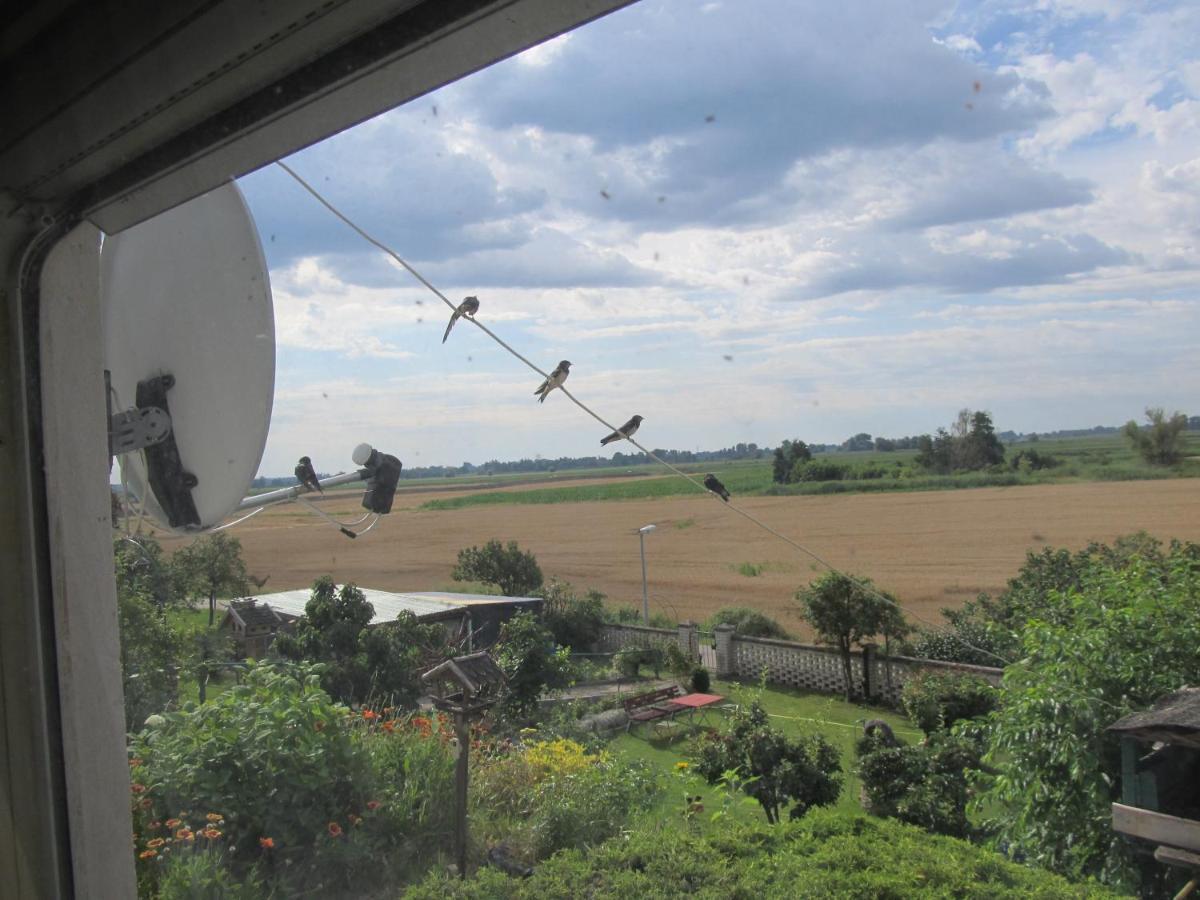
{"type": "Polygon", "coordinates": [[[1110,827],[1122,768],[1105,728],[1200,680],[1200,546],[1105,550],[1073,559],[1078,583],[1046,590],[1020,626],[986,731],[1001,776],[979,810],[1031,862],[1132,889],[1158,875],[1110,827]]]}

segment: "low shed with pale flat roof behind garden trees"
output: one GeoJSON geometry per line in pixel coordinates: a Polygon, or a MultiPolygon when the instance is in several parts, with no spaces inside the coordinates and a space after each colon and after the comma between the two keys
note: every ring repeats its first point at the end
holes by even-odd
{"type": "MultiPolygon", "coordinates": [[[[342,586],[336,587],[341,589],[342,586]]],[[[360,587],[359,590],[374,608],[374,617],[371,619],[372,626],[386,625],[389,622],[394,622],[401,612],[410,612],[420,622],[443,623],[448,637],[463,638],[468,650],[491,647],[500,636],[500,625],[521,610],[539,612],[542,602],[541,598],[536,596],[450,594],[436,590],[400,593],[364,587],[360,587]]],[[[305,588],[259,594],[247,598],[247,601],[257,602],[259,610],[265,608],[274,613],[280,619],[280,626],[289,626],[304,616],[305,606],[311,595],[311,592],[305,588]]],[[[233,605],[230,605],[230,611],[233,611],[233,605]]],[[[274,640],[274,632],[271,640],[274,640]]]]}

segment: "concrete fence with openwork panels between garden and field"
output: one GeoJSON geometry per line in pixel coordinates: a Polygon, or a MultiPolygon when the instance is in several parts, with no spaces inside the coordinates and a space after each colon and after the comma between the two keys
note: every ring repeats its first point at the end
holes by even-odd
{"type": "MultiPolygon", "coordinates": [[[[758,680],[766,672],[768,684],[784,684],[821,694],[845,691],[841,654],[832,647],[737,635],[732,625],[718,625],[715,632],[718,678],[758,680]]],[[[689,659],[700,660],[698,629],[685,622],[674,631],[641,625],[606,625],[600,644],[606,652],[623,647],[653,647],[678,642],[689,659]]],[[[851,653],[851,679],[864,696],[898,704],[905,682],[918,672],[965,672],[1000,684],[1001,668],[968,666],[961,662],[888,658],[875,644],[851,653]]]]}

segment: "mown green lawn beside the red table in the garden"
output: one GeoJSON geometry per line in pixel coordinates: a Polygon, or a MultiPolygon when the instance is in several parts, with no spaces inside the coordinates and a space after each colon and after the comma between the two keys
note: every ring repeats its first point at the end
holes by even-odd
{"type": "MultiPolygon", "coordinates": [[[[750,703],[756,696],[762,698],[772,724],[788,736],[820,731],[829,743],[841,751],[842,772],[846,778],[836,809],[846,812],[860,812],[858,803],[862,782],[851,774],[854,767],[854,742],[863,733],[863,722],[869,719],[882,719],[895,731],[905,743],[916,743],[923,737],[920,731],[902,715],[878,707],[846,703],[826,694],[808,694],[784,688],[760,689],[755,684],[737,682],[713,682],[712,691],[720,694],[734,703],[750,703]]],[[[709,713],[708,721],[715,724],[720,713],[709,713]]],[[[680,776],[676,763],[692,758],[691,738],[677,737],[673,740],[654,737],[650,726],[642,726],[631,734],[616,738],[610,748],[629,758],[644,760],[658,770],[670,773],[670,790],[650,816],[671,821],[683,815],[684,796],[700,796],[704,814],[698,816],[701,823],[710,821],[710,814],[724,808],[731,816],[744,822],[766,821],[758,804],[743,796],[732,799],[720,787],[709,787],[698,776],[680,776]]]]}

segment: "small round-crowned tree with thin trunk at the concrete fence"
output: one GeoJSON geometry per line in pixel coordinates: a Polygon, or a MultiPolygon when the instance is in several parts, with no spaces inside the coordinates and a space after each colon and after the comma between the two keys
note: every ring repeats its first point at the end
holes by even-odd
{"type": "Polygon", "coordinates": [[[851,649],[864,637],[882,631],[888,610],[894,606],[894,601],[888,602],[884,598],[870,578],[851,578],[841,572],[826,572],[796,594],[800,617],[812,625],[817,638],[841,652],[847,701],[854,698],[851,649]]]}

